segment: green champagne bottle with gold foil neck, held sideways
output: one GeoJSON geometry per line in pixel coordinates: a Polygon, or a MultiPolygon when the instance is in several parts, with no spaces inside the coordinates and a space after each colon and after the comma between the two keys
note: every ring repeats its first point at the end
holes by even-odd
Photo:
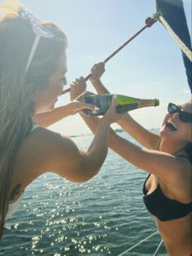
{"type": "MultiPolygon", "coordinates": [[[[111,99],[114,95],[86,95],[85,103],[98,107],[98,110],[92,111],[85,109],[84,113],[89,116],[101,116],[106,113],[111,106],[111,99]]],[[[137,99],[125,95],[116,95],[116,113],[126,113],[136,108],[145,108],[159,106],[159,99],[137,99]]]]}

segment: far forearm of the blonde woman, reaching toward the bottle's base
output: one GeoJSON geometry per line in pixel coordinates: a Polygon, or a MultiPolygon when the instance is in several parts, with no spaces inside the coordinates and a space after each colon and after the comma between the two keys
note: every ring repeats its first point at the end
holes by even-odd
{"type": "Polygon", "coordinates": [[[54,110],[46,113],[37,113],[33,117],[33,121],[37,123],[38,126],[48,127],[53,125],[55,122],[60,121],[61,119],[68,117],[72,114],[71,110],[68,108],[68,105],[55,108],[54,110]]]}

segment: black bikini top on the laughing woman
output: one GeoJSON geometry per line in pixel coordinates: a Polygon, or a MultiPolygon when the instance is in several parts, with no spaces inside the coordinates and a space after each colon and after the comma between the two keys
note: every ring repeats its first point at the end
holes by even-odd
{"type": "MultiPolygon", "coordinates": [[[[150,175],[151,174],[148,175],[147,179],[149,179],[150,175]]],[[[146,181],[143,185],[144,204],[146,205],[146,209],[156,218],[159,218],[160,221],[183,218],[190,213],[192,210],[192,201],[188,204],[184,204],[164,196],[159,183],[154,192],[146,195],[146,181]]]]}

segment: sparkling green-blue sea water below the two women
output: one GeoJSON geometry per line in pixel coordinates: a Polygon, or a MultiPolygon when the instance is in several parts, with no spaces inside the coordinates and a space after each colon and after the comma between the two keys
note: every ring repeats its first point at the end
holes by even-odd
{"type": "MultiPolygon", "coordinates": [[[[93,136],[72,139],[85,150],[93,136]]],[[[28,186],[20,210],[7,222],[0,255],[122,254],[157,230],[142,201],[146,176],[111,150],[86,183],[42,175],[28,186]]],[[[153,255],[160,241],[157,233],[123,255],[153,255]]],[[[166,255],[164,246],[158,255],[166,255]]]]}

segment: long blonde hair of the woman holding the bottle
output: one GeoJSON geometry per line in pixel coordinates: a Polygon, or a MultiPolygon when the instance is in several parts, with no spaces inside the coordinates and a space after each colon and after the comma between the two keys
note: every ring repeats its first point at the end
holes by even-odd
{"type": "Polygon", "coordinates": [[[34,95],[46,88],[67,46],[65,34],[55,24],[43,25],[55,37],[40,39],[25,74],[36,36],[32,26],[20,16],[0,22],[0,237],[10,201],[15,153],[33,126],[34,95]]]}

